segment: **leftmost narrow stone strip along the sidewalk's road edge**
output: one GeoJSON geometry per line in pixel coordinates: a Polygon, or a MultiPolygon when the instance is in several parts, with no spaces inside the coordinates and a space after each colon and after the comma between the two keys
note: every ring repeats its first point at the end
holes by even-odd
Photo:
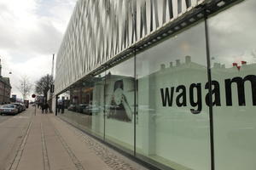
{"type": "Polygon", "coordinates": [[[25,145],[26,145],[26,139],[27,139],[27,137],[30,133],[31,127],[32,127],[32,121],[29,122],[29,126],[26,129],[26,134],[25,134],[25,136],[22,140],[22,143],[20,144],[19,150],[16,153],[15,160],[12,162],[11,166],[9,167],[9,170],[16,170],[18,168],[18,165],[20,163],[20,158],[22,156],[23,150],[24,150],[25,145]]]}

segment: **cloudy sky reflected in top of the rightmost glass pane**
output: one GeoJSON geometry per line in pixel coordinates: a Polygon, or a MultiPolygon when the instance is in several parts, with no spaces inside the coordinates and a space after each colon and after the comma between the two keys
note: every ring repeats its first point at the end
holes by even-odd
{"type": "Polygon", "coordinates": [[[255,1],[239,3],[209,19],[211,55],[215,62],[232,67],[234,62],[255,63],[255,1]]]}

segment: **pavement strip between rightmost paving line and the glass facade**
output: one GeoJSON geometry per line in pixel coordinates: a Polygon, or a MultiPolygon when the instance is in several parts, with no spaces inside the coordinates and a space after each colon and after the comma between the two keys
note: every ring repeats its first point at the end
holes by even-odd
{"type": "Polygon", "coordinates": [[[96,167],[96,164],[101,165],[102,163],[108,166],[107,169],[147,170],[146,167],[108,148],[78,128],[63,123],[60,118],[52,116],[50,120],[73,148],[84,167],[87,167],[86,169],[102,169],[104,167],[96,167]]]}

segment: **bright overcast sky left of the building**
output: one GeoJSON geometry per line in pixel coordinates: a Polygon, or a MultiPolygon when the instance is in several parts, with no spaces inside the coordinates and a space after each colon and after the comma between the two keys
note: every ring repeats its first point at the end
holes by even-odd
{"type": "Polygon", "coordinates": [[[21,98],[20,77],[34,83],[50,74],[76,1],[0,0],[2,76],[10,77],[12,94],[21,98]]]}

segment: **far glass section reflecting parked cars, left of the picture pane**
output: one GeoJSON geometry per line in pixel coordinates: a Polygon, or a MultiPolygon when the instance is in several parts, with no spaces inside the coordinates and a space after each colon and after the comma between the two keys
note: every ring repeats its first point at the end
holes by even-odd
{"type": "Polygon", "coordinates": [[[105,73],[87,78],[61,94],[58,112],[75,126],[103,137],[105,73]]]}

